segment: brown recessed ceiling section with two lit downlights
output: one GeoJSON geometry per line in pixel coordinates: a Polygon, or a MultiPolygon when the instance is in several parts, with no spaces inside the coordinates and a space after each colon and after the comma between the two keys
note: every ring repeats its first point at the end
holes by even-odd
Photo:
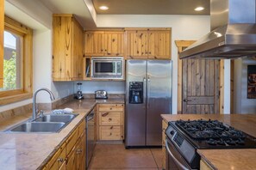
{"type": "Polygon", "coordinates": [[[209,0],[92,0],[99,15],[209,15],[209,0]],[[99,6],[108,6],[101,10],[99,6]],[[204,10],[194,9],[203,6],[204,10]]]}

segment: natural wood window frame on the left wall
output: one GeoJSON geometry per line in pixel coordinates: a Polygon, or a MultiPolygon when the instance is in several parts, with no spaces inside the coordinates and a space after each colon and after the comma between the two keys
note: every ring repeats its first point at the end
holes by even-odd
{"type": "Polygon", "coordinates": [[[4,30],[23,35],[22,89],[0,92],[0,105],[26,100],[33,95],[33,30],[9,16],[4,16],[4,30]]]}

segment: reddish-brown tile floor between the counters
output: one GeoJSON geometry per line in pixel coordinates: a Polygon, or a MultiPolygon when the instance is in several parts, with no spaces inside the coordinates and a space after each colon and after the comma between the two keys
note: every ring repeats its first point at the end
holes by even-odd
{"type": "Polygon", "coordinates": [[[97,143],[89,170],[159,170],[161,149],[125,149],[123,143],[97,143]]]}

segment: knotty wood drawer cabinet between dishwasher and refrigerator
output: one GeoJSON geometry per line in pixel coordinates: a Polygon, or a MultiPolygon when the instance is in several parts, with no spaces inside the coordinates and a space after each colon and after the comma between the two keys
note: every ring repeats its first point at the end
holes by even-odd
{"type": "Polygon", "coordinates": [[[98,140],[124,140],[123,104],[100,104],[97,115],[98,140]]]}

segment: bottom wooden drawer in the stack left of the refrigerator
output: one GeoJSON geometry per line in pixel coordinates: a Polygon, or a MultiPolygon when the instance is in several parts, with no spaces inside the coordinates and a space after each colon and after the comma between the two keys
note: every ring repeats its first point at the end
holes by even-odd
{"type": "Polygon", "coordinates": [[[122,126],[100,126],[99,128],[99,139],[100,140],[122,140],[122,126]]]}

